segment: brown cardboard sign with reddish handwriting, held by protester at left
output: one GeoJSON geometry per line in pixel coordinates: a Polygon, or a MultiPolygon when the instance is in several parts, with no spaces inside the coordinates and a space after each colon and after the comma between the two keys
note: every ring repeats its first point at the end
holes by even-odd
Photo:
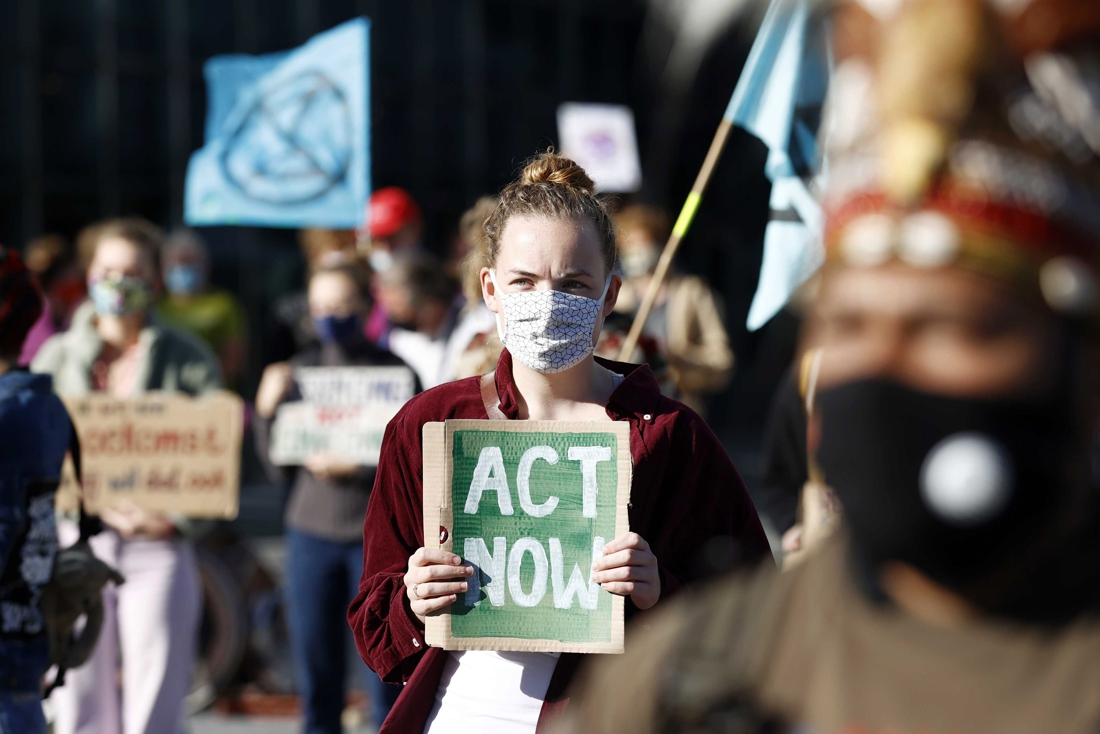
{"type": "MultiPolygon", "coordinates": [[[[191,398],[102,393],[64,398],[80,438],[85,510],[129,501],[188,517],[237,517],[244,405],[228,392],[191,398]]],[[[79,492],[66,461],[58,507],[79,492]]]]}

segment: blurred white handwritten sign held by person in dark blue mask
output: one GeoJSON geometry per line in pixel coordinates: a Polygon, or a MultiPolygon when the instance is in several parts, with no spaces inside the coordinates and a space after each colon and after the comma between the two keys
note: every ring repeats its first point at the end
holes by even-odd
{"type": "Polygon", "coordinates": [[[378,463],[386,424],[415,387],[407,368],[299,368],[301,401],[275,414],[271,459],[301,464],[315,453],[334,453],[358,464],[378,463]]]}

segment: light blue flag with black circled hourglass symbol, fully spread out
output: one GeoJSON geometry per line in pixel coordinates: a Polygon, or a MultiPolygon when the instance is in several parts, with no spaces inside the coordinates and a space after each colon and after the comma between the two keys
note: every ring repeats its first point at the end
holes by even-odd
{"type": "Polygon", "coordinates": [[[363,221],[371,194],[370,21],[290,52],[205,67],[206,142],[187,168],[188,224],[330,227],[363,221]]]}

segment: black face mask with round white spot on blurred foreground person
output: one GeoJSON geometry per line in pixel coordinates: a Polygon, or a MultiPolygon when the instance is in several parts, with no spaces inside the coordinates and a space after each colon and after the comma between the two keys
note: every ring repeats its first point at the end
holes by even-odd
{"type": "Polygon", "coordinates": [[[1067,395],[957,398],[884,380],[818,393],[817,462],[860,565],[903,561],[983,609],[1010,603],[1064,543],[1088,481],[1067,395]]]}

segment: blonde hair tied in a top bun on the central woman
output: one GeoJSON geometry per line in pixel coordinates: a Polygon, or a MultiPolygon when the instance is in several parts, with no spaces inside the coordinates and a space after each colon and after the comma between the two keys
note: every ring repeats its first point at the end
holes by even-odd
{"type": "Polygon", "coordinates": [[[596,185],[574,161],[548,149],[531,158],[519,179],[501,191],[501,202],[485,221],[486,264],[496,264],[501,234],[512,217],[551,217],[588,222],[600,238],[604,265],[615,269],[617,248],[610,211],[596,198],[596,185]]]}

